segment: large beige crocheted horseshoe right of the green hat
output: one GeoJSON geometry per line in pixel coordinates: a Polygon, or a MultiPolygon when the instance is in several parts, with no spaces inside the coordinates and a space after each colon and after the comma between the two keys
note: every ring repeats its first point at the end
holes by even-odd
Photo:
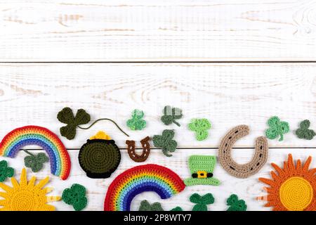
{"type": "Polygon", "coordinates": [[[232,146],[238,139],[249,134],[249,127],[246,125],[239,125],[231,129],[223,138],[218,149],[218,157],[220,165],[232,176],[239,178],[246,178],[256,172],[265,165],[268,158],[268,141],[264,136],[256,139],[256,153],[251,162],[240,165],[232,159],[232,146]]]}

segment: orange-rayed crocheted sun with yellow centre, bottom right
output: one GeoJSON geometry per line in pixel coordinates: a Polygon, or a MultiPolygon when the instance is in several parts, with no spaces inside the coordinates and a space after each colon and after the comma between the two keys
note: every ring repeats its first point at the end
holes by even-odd
{"type": "Polygon", "coordinates": [[[316,168],[309,169],[311,157],[301,165],[301,160],[294,164],[292,155],[284,162],[283,169],[272,163],[275,171],[272,179],[259,178],[270,187],[265,187],[267,196],[258,200],[268,201],[265,207],[274,211],[315,211],[316,210],[316,168]]]}

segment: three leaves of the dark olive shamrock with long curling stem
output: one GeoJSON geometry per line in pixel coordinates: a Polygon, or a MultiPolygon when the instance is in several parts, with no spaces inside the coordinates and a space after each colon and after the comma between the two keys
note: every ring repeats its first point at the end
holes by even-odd
{"type": "Polygon", "coordinates": [[[76,136],[76,128],[79,125],[87,124],[91,120],[86,110],[80,109],[77,111],[76,116],[74,116],[72,109],[68,107],[63,108],[58,113],[57,118],[60,122],[67,124],[67,126],[60,128],[60,134],[65,136],[68,140],[74,139],[76,136]]]}

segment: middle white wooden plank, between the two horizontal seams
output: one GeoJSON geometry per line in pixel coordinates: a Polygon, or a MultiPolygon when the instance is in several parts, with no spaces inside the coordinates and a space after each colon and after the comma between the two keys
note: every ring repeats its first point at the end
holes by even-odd
{"type": "MultiPolygon", "coordinates": [[[[63,124],[58,111],[69,106],[84,108],[92,120],[116,120],[127,138],[110,122],[100,122],[88,131],[77,129],[76,139],[62,138],[67,148],[80,148],[90,136],[104,130],[126,148],[126,139],[140,141],[145,136],[175,129],[179,148],[217,148],[228,129],[248,124],[251,134],[235,147],[253,147],[264,135],[269,117],[289,122],[291,132],[270,147],[315,147],[314,141],[294,134],[301,120],[316,127],[316,64],[1,64],[0,136],[15,127],[29,124],[47,127],[59,134],[63,124]],[[160,121],[164,105],[183,109],[181,127],[160,121]],[[135,108],[144,110],[147,127],[131,131],[126,120],[135,108]],[[213,128],[209,139],[196,141],[187,124],[194,117],[206,117],[213,128]]],[[[140,143],[137,143],[140,147],[140,143]]]]}

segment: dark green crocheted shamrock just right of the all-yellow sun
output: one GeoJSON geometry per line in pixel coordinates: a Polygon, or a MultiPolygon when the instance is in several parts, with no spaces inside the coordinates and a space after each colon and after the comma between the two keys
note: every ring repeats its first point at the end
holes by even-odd
{"type": "Polygon", "coordinates": [[[86,188],[80,184],[73,184],[71,188],[67,188],[62,192],[62,200],[66,204],[72,205],[74,210],[81,211],[88,203],[86,188]]]}

